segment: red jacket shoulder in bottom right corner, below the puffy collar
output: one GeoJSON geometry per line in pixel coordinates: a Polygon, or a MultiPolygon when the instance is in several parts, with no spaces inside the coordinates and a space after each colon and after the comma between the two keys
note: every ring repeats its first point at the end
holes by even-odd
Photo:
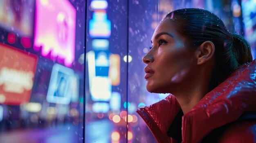
{"type": "Polygon", "coordinates": [[[229,125],[219,143],[256,143],[256,119],[237,121],[229,125]]]}

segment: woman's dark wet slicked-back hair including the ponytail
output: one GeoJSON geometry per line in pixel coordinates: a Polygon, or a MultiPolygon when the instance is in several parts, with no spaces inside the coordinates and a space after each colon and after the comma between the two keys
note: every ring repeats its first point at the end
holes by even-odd
{"type": "Polygon", "coordinates": [[[231,34],[217,15],[204,9],[179,9],[168,13],[175,30],[188,39],[188,48],[195,50],[203,42],[215,46],[213,72],[209,85],[212,90],[240,65],[252,62],[251,48],[240,35],[231,34]]]}

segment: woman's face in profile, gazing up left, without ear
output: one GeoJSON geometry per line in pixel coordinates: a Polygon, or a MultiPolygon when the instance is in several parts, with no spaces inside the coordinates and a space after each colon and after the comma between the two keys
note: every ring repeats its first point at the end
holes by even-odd
{"type": "Polygon", "coordinates": [[[149,92],[171,93],[186,90],[196,74],[197,61],[189,51],[186,38],[175,31],[171,19],[162,20],[151,38],[152,48],[142,58],[146,64],[145,79],[149,92]]]}

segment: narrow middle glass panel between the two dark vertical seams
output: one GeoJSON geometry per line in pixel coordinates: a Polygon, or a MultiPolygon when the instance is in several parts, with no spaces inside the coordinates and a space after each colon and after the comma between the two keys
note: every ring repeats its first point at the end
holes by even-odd
{"type": "Polygon", "coordinates": [[[88,0],[87,3],[86,143],[126,142],[130,117],[126,102],[127,2],[88,0]]]}

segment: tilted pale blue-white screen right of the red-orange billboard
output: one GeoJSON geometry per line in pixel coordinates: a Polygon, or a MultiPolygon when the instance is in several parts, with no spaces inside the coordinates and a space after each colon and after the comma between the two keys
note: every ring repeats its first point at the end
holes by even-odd
{"type": "Polygon", "coordinates": [[[46,100],[50,103],[69,104],[72,95],[74,71],[60,64],[54,64],[46,100]]]}

